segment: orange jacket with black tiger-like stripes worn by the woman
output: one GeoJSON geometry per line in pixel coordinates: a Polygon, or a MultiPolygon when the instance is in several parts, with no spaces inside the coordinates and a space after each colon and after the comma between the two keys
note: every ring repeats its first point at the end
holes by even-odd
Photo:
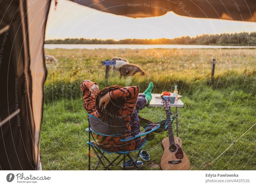
{"type": "MultiPolygon", "coordinates": [[[[91,92],[89,91],[90,87],[96,84],[95,82],[84,80],[81,84],[81,90],[84,97],[84,108],[87,111],[87,113],[100,118],[100,114],[96,109],[95,104],[95,98],[91,95],[91,92]]],[[[125,98],[125,104],[124,107],[120,107],[119,114],[124,116],[124,121],[127,127],[126,135],[129,136],[129,131],[131,131],[131,127],[129,125],[129,122],[131,120],[132,113],[135,109],[138,95],[139,95],[139,87],[138,86],[131,86],[131,87],[124,87],[121,89],[114,90],[110,92],[110,97],[115,99],[117,97],[124,97],[125,98]]],[[[102,136],[94,133],[94,137],[96,142],[98,142],[105,149],[108,149],[113,152],[117,151],[133,151],[135,148],[135,141],[131,140],[128,142],[120,141],[120,137],[112,137],[112,136],[102,136]]]]}

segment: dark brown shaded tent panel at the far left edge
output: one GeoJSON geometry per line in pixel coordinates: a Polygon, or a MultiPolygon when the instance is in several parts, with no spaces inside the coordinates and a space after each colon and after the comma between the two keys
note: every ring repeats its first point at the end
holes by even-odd
{"type": "MultiPolygon", "coordinates": [[[[4,2],[8,3],[8,2],[4,2]]],[[[9,4],[10,5],[10,4],[9,4]]],[[[33,161],[33,147],[31,139],[31,119],[28,94],[24,93],[25,71],[28,68],[24,65],[27,58],[26,39],[26,5],[15,1],[10,7],[11,18],[5,22],[9,29],[4,30],[0,35],[0,169],[1,170],[33,170],[36,168],[33,161]],[[16,9],[16,10],[15,10],[16,9]],[[20,112],[19,112],[20,110],[20,112]],[[18,112],[17,112],[18,111],[18,112]],[[16,112],[14,117],[13,113],[16,112]],[[7,118],[7,122],[2,121],[7,118]]],[[[3,10],[2,2],[0,12],[3,10]]],[[[4,14],[9,16],[8,14],[4,14]]]]}

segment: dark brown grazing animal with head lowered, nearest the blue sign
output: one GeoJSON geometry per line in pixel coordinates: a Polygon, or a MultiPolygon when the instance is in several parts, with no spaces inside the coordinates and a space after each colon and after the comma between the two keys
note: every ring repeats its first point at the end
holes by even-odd
{"type": "Polygon", "coordinates": [[[124,64],[119,67],[119,72],[120,72],[120,78],[122,76],[128,76],[131,75],[133,76],[137,72],[140,72],[140,75],[145,75],[145,71],[138,65],[134,64],[124,64]]]}

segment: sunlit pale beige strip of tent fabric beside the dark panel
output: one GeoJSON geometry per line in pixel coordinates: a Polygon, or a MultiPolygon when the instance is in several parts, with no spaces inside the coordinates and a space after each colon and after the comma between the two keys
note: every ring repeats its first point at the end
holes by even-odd
{"type": "Polygon", "coordinates": [[[32,108],[34,118],[34,148],[35,162],[37,167],[41,169],[40,163],[40,128],[43,117],[43,101],[44,101],[44,80],[45,63],[44,63],[44,35],[46,20],[50,8],[50,1],[40,0],[35,4],[27,1],[28,7],[28,44],[30,55],[30,71],[32,78],[32,108]]]}

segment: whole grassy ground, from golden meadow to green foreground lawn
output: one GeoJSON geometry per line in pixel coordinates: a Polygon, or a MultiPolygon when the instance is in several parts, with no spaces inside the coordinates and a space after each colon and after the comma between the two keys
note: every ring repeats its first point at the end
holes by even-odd
{"type": "MultiPolygon", "coordinates": [[[[253,49],[225,50],[45,50],[59,62],[47,63],[41,156],[44,170],[86,170],[88,127],[80,83],[91,79],[100,88],[112,84],[139,85],[154,82],[154,93],[178,84],[184,108],[179,108],[179,136],[191,170],[255,170],[256,127],[213,164],[207,164],[240,137],[255,120],[255,57],[253,49]],[[120,55],[121,54],[121,55],[120,55]],[[183,54],[183,55],[181,55],[183,54]],[[220,55],[221,54],[221,55],[220,55]],[[113,56],[128,58],[148,73],[144,77],[104,80],[100,61],[113,56]],[[215,81],[209,86],[212,58],[217,59],[215,81]],[[174,63],[175,62],[175,63],[174,63]],[[92,68],[93,67],[93,68],[92,68]]],[[[140,116],[153,121],[165,117],[163,108],[146,107],[140,116]]],[[[173,127],[175,125],[173,124],[173,127]]],[[[159,170],[161,140],[167,131],[155,133],[144,150],[151,156],[141,170],[159,170]]],[[[92,164],[96,164],[96,157],[92,164]]],[[[114,169],[119,170],[117,165],[114,169]]]]}

